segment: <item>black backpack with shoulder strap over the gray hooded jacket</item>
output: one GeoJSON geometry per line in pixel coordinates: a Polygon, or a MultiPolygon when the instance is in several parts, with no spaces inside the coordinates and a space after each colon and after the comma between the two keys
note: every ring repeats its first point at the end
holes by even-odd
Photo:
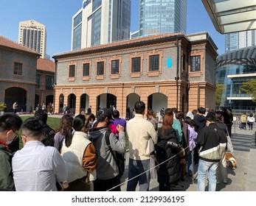
{"type": "Polygon", "coordinates": [[[113,152],[113,150],[110,146],[110,141],[109,141],[109,135],[110,134],[111,134],[110,131],[107,131],[105,133],[105,143],[107,144],[111,154],[113,155],[114,161],[117,163],[120,176],[122,176],[122,174],[125,171],[125,154],[120,154],[118,152],[115,152],[115,153],[113,152]]]}

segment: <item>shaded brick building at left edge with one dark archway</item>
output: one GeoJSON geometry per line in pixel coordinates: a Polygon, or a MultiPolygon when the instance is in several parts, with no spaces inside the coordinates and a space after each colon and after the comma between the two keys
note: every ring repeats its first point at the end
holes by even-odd
{"type": "Polygon", "coordinates": [[[35,104],[36,51],[0,36],[0,102],[7,104],[6,111],[29,111],[35,104]]]}

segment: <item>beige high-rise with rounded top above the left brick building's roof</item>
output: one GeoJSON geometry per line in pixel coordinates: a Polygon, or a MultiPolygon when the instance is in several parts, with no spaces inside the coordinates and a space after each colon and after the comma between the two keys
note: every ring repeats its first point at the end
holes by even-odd
{"type": "Polygon", "coordinates": [[[37,51],[41,58],[46,57],[46,27],[34,20],[21,21],[18,24],[18,43],[37,51]]]}

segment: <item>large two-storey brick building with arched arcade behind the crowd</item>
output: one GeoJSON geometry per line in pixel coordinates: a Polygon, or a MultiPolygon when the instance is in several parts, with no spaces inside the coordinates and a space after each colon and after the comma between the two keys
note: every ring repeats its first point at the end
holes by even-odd
{"type": "Polygon", "coordinates": [[[218,48],[207,32],[155,35],[56,54],[55,111],[114,105],[125,117],[138,100],[147,110],[215,108],[218,48]]]}

